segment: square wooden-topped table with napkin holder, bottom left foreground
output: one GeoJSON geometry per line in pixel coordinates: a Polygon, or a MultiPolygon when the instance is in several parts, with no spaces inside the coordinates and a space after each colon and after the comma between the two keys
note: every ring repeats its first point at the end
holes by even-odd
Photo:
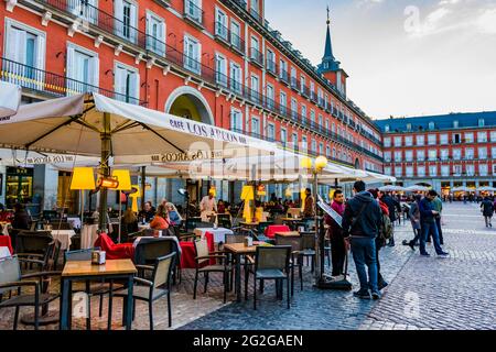
{"type": "MultiPolygon", "coordinates": [[[[94,265],[91,261],[67,262],[62,272],[61,330],[71,328],[69,304],[73,301],[72,283],[74,280],[128,279],[128,298],[126,304],[126,329],[132,324],[132,288],[133,277],[138,273],[131,260],[107,261],[103,265],[94,265]]],[[[110,293],[111,295],[111,293],[110,293]]],[[[110,297],[111,298],[111,297],[110,297]]],[[[109,311],[111,307],[109,307],[109,311]]]]}

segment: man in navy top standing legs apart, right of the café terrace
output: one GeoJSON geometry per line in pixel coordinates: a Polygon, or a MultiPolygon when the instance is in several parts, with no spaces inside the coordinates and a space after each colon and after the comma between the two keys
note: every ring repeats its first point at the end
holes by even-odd
{"type": "Polygon", "coordinates": [[[438,193],[435,190],[430,190],[428,195],[419,202],[420,223],[422,229],[422,237],[420,238],[420,255],[422,256],[430,256],[430,254],[425,251],[425,241],[429,234],[432,234],[435,253],[440,256],[449,255],[443,251],[441,243],[439,242],[438,226],[435,223],[435,217],[439,216],[439,212],[434,210],[433,206],[433,200],[435,197],[438,197],[438,193]]]}

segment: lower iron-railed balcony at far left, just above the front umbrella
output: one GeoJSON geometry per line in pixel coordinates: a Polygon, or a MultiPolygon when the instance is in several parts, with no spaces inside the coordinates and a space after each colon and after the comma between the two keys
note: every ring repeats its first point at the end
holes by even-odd
{"type": "Polygon", "coordinates": [[[23,90],[34,92],[43,98],[61,98],[77,94],[97,92],[120,101],[147,106],[145,101],[132,96],[104,89],[85,81],[37,69],[3,57],[0,57],[0,80],[19,85],[23,90]]]}

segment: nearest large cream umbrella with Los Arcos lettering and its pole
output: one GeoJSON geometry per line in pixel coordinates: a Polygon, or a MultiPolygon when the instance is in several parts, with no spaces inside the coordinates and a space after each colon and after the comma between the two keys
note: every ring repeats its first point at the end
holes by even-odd
{"type": "MultiPolygon", "coordinates": [[[[0,121],[0,147],[100,156],[100,176],[109,158],[173,153],[190,160],[200,153],[220,156],[270,155],[272,143],[213,125],[117,101],[98,94],[23,106],[0,121]]],[[[100,195],[100,230],[106,229],[107,189],[100,195]]]]}

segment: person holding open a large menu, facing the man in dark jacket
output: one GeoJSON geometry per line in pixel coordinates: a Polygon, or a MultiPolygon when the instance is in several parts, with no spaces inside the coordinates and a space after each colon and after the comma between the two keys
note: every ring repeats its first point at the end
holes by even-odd
{"type": "MultiPolygon", "coordinates": [[[[333,195],[333,202],[331,208],[343,217],[345,205],[344,195],[341,189],[336,189],[333,195]]],[[[343,237],[343,229],[337,222],[330,216],[325,216],[325,223],[330,226],[330,239],[331,239],[331,258],[333,262],[332,276],[339,276],[344,274],[344,262],[346,256],[345,240],[343,237]]]]}

